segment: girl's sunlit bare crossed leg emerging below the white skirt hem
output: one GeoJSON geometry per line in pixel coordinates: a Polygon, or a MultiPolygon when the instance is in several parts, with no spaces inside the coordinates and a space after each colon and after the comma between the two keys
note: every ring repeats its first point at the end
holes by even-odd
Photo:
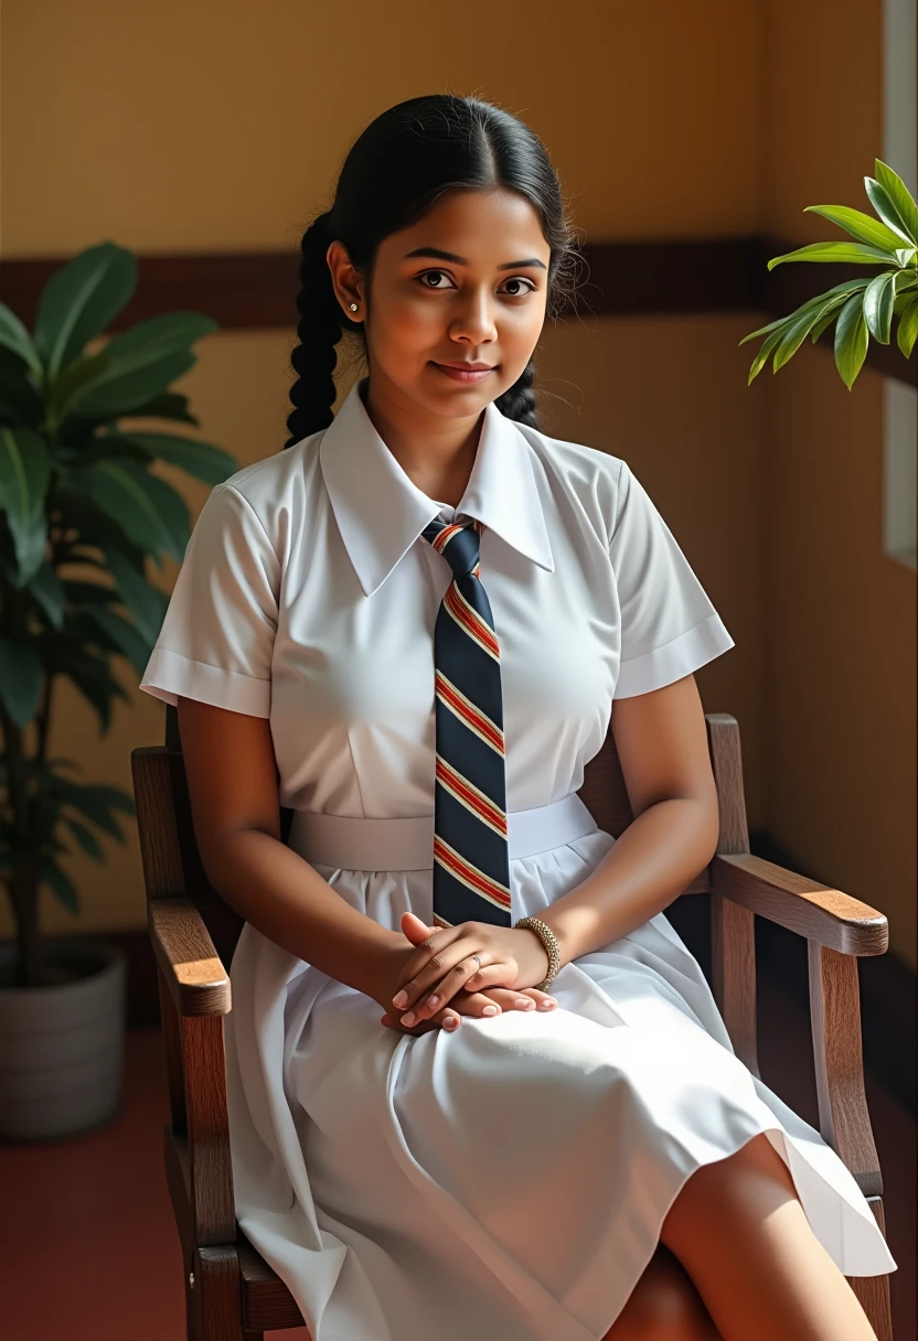
{"type": "Polygon", "coordinates": [[[693,1173],[660,1240],[684,1266],[725,1341],[875,1341],[764,1132],[693,1173]]]}

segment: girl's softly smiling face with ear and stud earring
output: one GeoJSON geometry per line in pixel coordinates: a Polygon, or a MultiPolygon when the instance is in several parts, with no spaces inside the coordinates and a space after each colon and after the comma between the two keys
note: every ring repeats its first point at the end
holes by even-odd
{"type": "Polygon", "coordinates": [[[345,312],[366,322],[370,384],[446,418],[475,416],[529,363],[545,322],[549,257],[536,211],[503,188],[452,190],[420,223],[385,237],[369,311],[342,244],[327,253],[345,312]],[[442,363],[489,371],[456,380],[442,363]]]}

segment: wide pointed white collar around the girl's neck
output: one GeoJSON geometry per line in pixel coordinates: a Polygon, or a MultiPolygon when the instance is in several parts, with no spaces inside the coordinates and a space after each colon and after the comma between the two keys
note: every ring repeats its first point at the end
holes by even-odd
{"type": "MultiPolygon", "coordinates": [[[[440,504],[405,475],[388,449],[356,382],[319,443],[319,465],[334,518],[366,595],[382,585],[440,504]]],[[[533,452],[491,401],[466,492],[455,515],[476,518],[541,569],[554,571],[533,452]]]]}

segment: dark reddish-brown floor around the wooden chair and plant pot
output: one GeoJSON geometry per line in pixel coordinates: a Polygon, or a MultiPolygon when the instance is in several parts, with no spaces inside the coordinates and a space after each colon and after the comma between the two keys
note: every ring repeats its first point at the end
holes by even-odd
{"type": "MultiPolygon", "coordinates": [[[[762,1077],[816,1125],[807,1021],[760,982],[762,1077]]],[[[868,1077],[884,1181],[895,1341],[915,1330],[915,1121],[868,1077]]],[[[122,1113],[44,1145],[0,1145],[4,1341],[181,1341],[183,1266],[161,1161],[160,1034],[129,1034],[122,1113]]],[[[303,1328],[271,1337],[302,1341],[303,1328]]]]}

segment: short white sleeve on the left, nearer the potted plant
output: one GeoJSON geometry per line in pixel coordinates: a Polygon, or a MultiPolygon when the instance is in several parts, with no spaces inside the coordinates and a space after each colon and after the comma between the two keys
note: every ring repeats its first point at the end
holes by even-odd
{"type": "Polygon", "coordinates": [[[173,707],[181,696],[268,717],[279,582],[251,503],[217,484],[185,547],[141,689],[173,707]]]}

